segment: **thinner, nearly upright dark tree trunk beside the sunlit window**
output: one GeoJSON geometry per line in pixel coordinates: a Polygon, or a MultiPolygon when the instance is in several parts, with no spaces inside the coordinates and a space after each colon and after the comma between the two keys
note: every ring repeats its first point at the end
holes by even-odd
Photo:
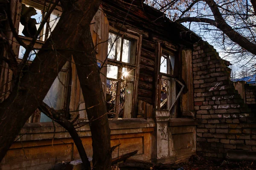
{"type": "Polygon", "coordinates": [[[73,55],[93,141],[93,167],[95,170],[111,170],[110,128],[107,108],[102,89],[99,68],[96,63],[94,45],[89,26],[77,49],[84,49],[85,54],[73,55]]]}

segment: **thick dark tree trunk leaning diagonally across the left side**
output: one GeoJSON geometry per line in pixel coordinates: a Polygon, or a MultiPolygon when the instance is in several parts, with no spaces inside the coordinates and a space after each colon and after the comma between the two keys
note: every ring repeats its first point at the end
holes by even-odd
{"type": "Polygon", "coordinates": [[[29,71],[20,78],[12,94],[0,103],[0,161],[26,120],[43,101],[67,59],[72,54],[78,53],[73,49],[76,49],[81,36],[86,31],[85,29],[89,30],[90,22],[99,8],[100,1],[62,0],[63,13],[61,18],[51,37],[42,47],[49,50],[38,52],[37,57],[29,66],[29,71]]]}

